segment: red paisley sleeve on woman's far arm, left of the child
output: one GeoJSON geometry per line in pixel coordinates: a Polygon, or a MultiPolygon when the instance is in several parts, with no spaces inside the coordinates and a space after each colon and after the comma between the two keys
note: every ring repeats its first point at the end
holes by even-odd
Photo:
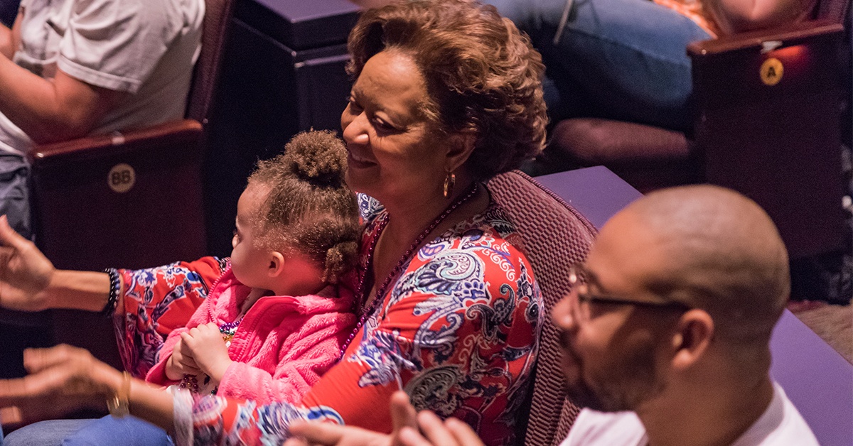
{"type": "Polygon", "coordinates": [[[186,325],[228,267],[229,259],[200,258],[150,269],[119,269],[123,308],[113,327],[125,370],[145,379],[172,330],[186,325]]]}

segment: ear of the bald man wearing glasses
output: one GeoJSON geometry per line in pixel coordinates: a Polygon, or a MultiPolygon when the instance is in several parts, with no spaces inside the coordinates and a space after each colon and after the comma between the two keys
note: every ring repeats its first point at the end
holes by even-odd
{"type": "Polygon", "coordinates": [[[699,362],[711,347],[714,339],[714,320],[705,310],[688,310],[676,324],[672,334],[671,346],[674,352],[672,367],[687,370],[699,362]]]}

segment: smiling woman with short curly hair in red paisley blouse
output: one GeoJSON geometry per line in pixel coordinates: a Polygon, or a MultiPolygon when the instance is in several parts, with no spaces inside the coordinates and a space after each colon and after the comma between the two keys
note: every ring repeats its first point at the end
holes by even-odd
{"type": "MultiPolygon", "coordinates": [[[[76,388],[88,401],[129,402],[176,443],[269,444],[295,419],[388,432],[389,398],[403,389],[416,408],[465,420],[486,443],[514,443],[542,297],[485,182],[543,146],[540,55],[510,20],[467,0],[368,10],[349,50],[355,84],[341,127],[364,228],[358,321],[340,362],[299,403],[259,405],[189,392],[164,399],[77,350],[30,351],[40,395],[55,397],[42,378],[61,363],[71,371],[64,382],[84,383],[76,388]]],[[[37,399],[28,398],[0,391],[0,403],[37,399]]]]}

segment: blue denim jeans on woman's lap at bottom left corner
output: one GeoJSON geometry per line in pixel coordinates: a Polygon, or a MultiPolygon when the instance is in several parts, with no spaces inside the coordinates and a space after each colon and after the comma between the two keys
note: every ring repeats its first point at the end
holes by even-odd
{"type": "Polygon", "coordinates": [[[48,420],[24,426],[6,437],[5,446],[172,446],[160,427],[132,416],[97,420],[48,420]]]}

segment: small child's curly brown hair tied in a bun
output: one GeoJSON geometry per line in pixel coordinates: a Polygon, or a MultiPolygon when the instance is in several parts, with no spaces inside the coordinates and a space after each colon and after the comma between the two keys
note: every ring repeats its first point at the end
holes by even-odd
{"type": "Polygon", "coordinates": [[[336,283],[356,265],[361,228],[355,194],[344,182],[346,148],[330,131],[293,136],[284,153],[258,161],[247,187],[269,188],[252,218],[255,243],[298,251],[336,283]]]}

